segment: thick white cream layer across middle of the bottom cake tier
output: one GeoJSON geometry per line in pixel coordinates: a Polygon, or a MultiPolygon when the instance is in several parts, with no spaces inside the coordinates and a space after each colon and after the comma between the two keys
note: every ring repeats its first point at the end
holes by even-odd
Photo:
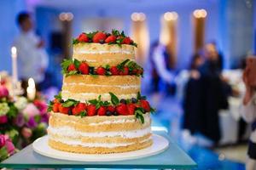
{"type": "Polygon", "coordinates": [[[90,138],[100,138],[100,137],[122,137],[125,139],[139,138],[151,133],[151,127],[146,127],[140,130],[133,131],[119,131],[119,132],[97,132],[97,133],[84,133],[79,132],[73,127],[48,127],[47,131],[52,134],[57,134],[61,136],[79,138],[79,137],[90,137],[90,138]]]}

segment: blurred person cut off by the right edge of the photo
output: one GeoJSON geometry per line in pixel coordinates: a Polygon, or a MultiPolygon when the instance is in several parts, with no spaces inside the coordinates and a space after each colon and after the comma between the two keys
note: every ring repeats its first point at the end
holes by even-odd
{"type": "Polygon", "coordinates": [[[252,123],[252,133],[249,139],[247,170],[256,169],[256,59],[247,59],[247,68],[243,72],[243,82],[246,94],[241,105],[241,115],[246,122],[252,123]],[[254,62],[252,62],[254,60],[254,62]],[[252,62],[254,65],[250,65],[252,62]]]}

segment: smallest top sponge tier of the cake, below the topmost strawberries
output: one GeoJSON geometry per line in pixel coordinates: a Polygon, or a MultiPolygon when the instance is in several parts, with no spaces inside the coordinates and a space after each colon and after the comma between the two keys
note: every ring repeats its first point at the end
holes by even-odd
{"type": "Polygon", "coordinates": [[[73,46],[73,59],[91,66],[118,65],[125,59],[135,60],[134,47],[108,43],[78,43],[73,46]]]}

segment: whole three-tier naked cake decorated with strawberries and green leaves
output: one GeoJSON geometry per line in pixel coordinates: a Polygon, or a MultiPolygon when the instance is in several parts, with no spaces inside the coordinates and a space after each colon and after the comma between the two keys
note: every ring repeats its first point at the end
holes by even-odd
{"type": "Polygon", "coordinates": [[[154,111],[140,94],[143,68],[137,44],[124,32],[95,31],[73,39],[65,59],[60,94],[49,103],[49,146],[56,150],[107,154],[150,146],[154,111]]]}

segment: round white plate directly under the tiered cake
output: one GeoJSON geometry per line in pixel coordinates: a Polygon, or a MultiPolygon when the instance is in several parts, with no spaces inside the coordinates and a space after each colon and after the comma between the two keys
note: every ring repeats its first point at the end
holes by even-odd
{"type": "Polygon", "coordinates": [[[143,150],[129,151],[124,153],[114,154],[76,154],[71,152],[65,152],[61,150],[55,150],[48,145],[48,136],[44,136],[34,141],[32,144],[33,150],[43,156],[52,157],[55,159],[69,160],[69,161],[123,161],[136,158],[142,158],[146,156],[153,156],[166,150],[169,145],[169,141],[164,137],[153,134],[153,144],[143,150]]]}

